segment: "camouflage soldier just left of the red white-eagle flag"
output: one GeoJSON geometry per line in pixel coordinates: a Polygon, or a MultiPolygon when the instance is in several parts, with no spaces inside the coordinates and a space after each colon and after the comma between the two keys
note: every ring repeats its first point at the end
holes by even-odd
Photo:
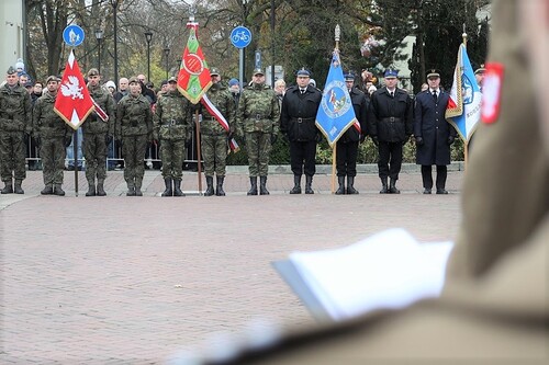
{"type": "Polygon", "coordinates": [[[59,79],[49,76],[46,80],[46,88],[47,92],[36,100],[33,109],[33,133],[40,146],[45,185],[41,194],[64,196],[63,169],[67,155],[66,147],[70,145],[72,137],[72,128],[54,111],[59,79]]]}

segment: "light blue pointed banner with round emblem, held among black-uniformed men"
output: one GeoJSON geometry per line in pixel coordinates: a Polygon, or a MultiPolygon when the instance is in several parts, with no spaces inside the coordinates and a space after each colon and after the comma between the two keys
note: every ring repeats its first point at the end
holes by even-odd
{"type": "Polygon", "coordinates": [[[358,121],[352,102],[345,84],[339,52],[336,49],[329,65],[326,87],[322,93],[321,107],[316,113],[316,126],[322,130],[330,147],[337,142],[345,130],[358,121]]]}

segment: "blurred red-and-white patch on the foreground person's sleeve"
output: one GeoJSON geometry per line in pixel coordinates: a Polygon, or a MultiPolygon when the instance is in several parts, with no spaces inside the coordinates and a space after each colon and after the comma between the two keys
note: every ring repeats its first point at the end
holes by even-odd
{"type": "Polygon", "coordinates": [[[482,85],[482,122],[492,124],[500,116],[504,66],[498,62],[486,64],[482,85]]]}

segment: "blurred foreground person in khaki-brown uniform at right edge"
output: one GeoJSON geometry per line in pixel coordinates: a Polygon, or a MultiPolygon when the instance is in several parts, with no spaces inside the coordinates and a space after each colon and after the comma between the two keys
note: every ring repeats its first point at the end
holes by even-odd
{"type": "Polygon", "coordinates": [[[548,363],[549,106],[536,91],[549,82],[549,2],[494,0],[492,10],[493,104],[475,132],[441,297],[296,327],[255,350],[211,349],[216,360],[202,364],[548,363]]]}

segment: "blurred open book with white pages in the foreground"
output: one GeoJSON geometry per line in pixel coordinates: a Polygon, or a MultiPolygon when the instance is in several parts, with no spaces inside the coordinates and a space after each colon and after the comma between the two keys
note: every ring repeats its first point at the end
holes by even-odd
{"type": "Polygon", "coordinates": [[[345,248],[294,252],[273,266],[315,318],[337,321],[438,297],[452,247],[395,228],[345,248]]]}

